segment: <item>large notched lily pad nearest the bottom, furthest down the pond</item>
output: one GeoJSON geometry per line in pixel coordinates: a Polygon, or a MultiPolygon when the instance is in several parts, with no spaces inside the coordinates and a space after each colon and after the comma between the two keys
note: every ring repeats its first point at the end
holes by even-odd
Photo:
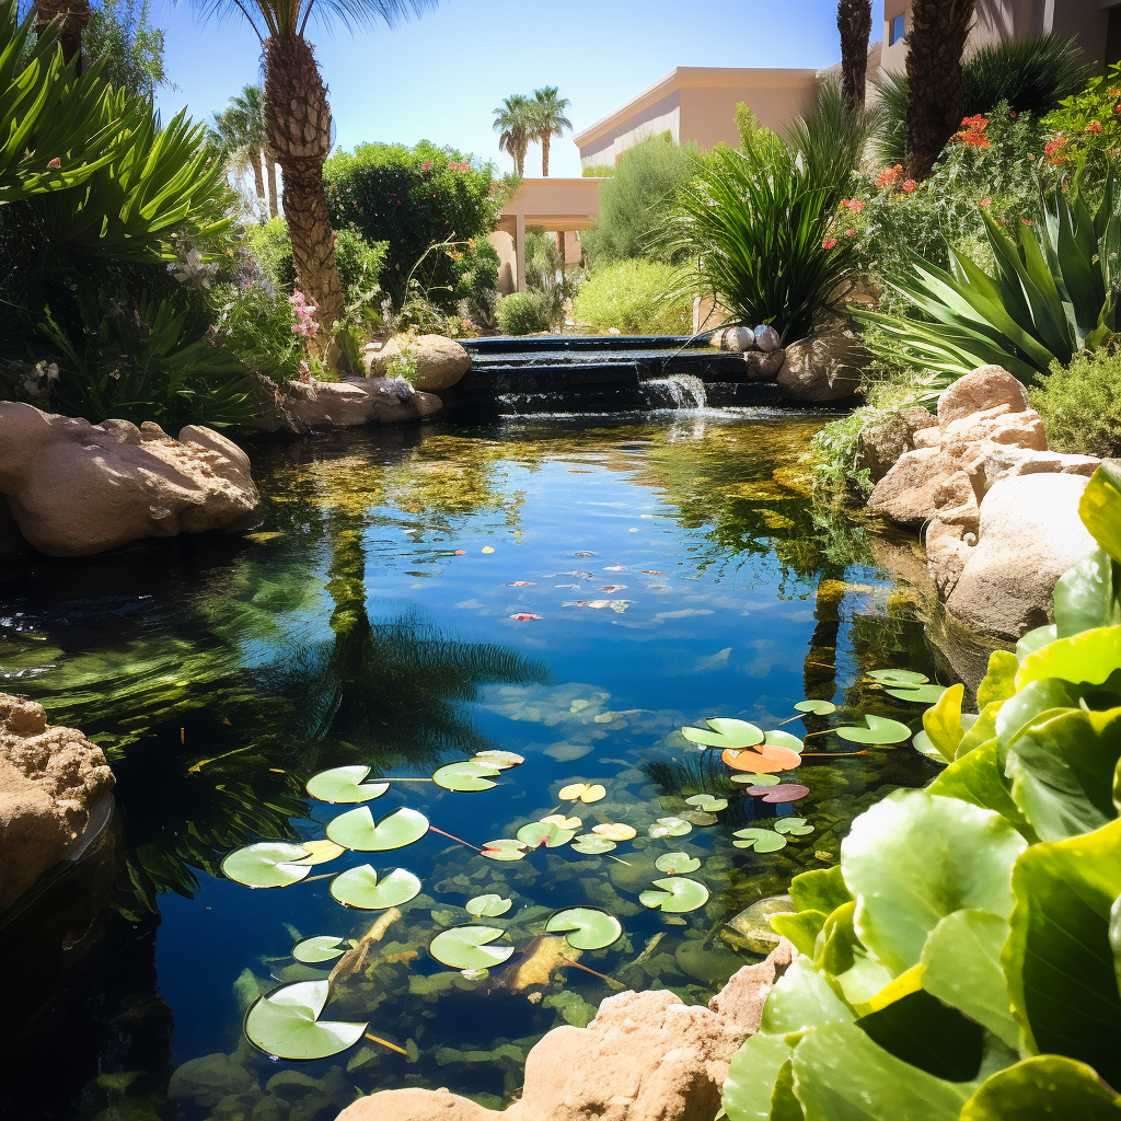
{"type": "Polygon", "coordinates": [[[285,1059],[327,1058],[362,1038],[369,1023],[321,1020],[328,981],[302,981],[261,997],[245,1016],[245,1038],[285,1059]]]}

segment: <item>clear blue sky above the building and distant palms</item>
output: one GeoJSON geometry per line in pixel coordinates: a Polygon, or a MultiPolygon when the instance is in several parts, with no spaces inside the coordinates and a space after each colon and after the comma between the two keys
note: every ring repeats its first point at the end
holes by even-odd
{"type": "MultiPolygon", "coordinates": [[[[873,3],[880,38],[883,2],[873,3]]],[[[183,105],[210,119],[259,80],[260,48],[239,17],[201,24],[187,0],[155,0],[176,90],[161,90],[165,119],[183,105]]],[[[580,132],[675,66],[828,66],[841,57],[835,0],[442,0],[393,29],[350,35],[312,29],[327,83],[336,143],[367,140],[453,145],[510,170],[492,110],[511,93],[556,85],[580,132]]],[[[540,174],[530,149],[527,172],[540,174]]],[[[580,175],[571,136],[553,145],[550,174],[580,175]]]]}

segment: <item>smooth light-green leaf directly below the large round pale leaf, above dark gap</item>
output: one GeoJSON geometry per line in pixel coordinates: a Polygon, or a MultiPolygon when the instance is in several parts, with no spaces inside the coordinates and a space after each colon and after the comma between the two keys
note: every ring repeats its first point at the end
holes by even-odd
{"type": "Polygon", "coordinates": [[[1008,981],[1000,954],[1008,941],[1008,921],[982,910],[947,915],[923,948],[923,988],[983,1023],[1009,1047],[1019,1046],[1008,981]]]}

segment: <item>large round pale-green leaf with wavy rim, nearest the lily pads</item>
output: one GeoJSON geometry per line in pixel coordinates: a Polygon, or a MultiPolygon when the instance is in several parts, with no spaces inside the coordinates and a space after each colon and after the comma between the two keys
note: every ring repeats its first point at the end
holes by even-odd
{"type": "Polygon", "coordinates": [[[1006,916],[1023,839],[999,814],[925,790],[897,790],[841,844],[856,934],[889,969],[917,965],[929,933],[962,908],[1006,916]]]}

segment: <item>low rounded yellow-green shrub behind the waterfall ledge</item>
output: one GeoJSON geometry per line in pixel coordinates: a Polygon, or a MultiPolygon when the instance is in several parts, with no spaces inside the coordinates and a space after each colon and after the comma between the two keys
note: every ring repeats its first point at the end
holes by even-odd
{"type": "Polygon", "coordinates": [[[604,265],[581,285],[573,318],[601,334],[612,327],[624,335],[688,334],[693,303],[679,293],[670,295],[675,280],[673,266],[660,261],[604,265]]]}

